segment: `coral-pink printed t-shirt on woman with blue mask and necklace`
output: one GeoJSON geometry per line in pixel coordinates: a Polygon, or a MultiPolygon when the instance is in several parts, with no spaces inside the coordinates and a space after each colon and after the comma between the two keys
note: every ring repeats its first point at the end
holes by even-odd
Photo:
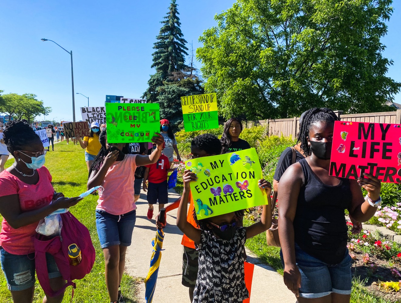
{"type": "MultiPolygon", "coordinates": [[[[29,185],[9,173],[0,173],[0,197],[18,195],[21,212],[34,211],[50,204],[53,200],[54,189],[51,185],[51,175],[46,167],[37,170],[39,181],[29,185]]],[[[12,228],[5,219],[0,232],[0,246],[8,253],[26,255],[34,252],[33,237],[39,222],[12,228]]]]}

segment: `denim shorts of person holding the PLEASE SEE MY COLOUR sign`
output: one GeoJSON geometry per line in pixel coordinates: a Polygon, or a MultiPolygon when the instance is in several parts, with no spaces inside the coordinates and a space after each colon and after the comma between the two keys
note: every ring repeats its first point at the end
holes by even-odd
{"type": "Polygon", "coordinates": [[[124,215],[111,215],[96,210],[96,229],[101,248],[130,246],[136,221],[136,209],[124,215]]]}

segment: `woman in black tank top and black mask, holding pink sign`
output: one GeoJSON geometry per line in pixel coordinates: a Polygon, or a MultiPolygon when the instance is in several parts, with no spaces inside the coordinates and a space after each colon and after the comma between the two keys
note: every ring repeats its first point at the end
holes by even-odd
{"type": "Polygon", "coordinates": [[[328,108],[305,113],[298,141],[308,157],[291,165],[279,182],[284,283],[299,303],[349,303],[344,210],[365,222],[377,211],[375,202],[380,199],[380,181],[373,175],[358,180],[329,176],[335,120],[336,114],[328,108]],[[361,187],[368,191],[366,200],[361,187]]]}

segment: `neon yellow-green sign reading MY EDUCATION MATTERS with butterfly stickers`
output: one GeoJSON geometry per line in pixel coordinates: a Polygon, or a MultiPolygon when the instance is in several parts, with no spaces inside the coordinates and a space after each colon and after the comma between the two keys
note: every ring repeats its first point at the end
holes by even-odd
{"type": "Polygon", "coordinates": [[[267,204],[255,148],[188,160],[185,167],[198,177],[190,183],[198,219],[267,204]]]}

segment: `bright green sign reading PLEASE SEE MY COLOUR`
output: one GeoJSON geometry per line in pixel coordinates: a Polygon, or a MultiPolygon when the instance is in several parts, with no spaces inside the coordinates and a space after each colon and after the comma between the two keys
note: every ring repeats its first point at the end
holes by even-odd
{"type": "Polygon", "coordinates": [[[150,142],[160,132],[158,103],[106,103],[107,142],[150,142]]]}

